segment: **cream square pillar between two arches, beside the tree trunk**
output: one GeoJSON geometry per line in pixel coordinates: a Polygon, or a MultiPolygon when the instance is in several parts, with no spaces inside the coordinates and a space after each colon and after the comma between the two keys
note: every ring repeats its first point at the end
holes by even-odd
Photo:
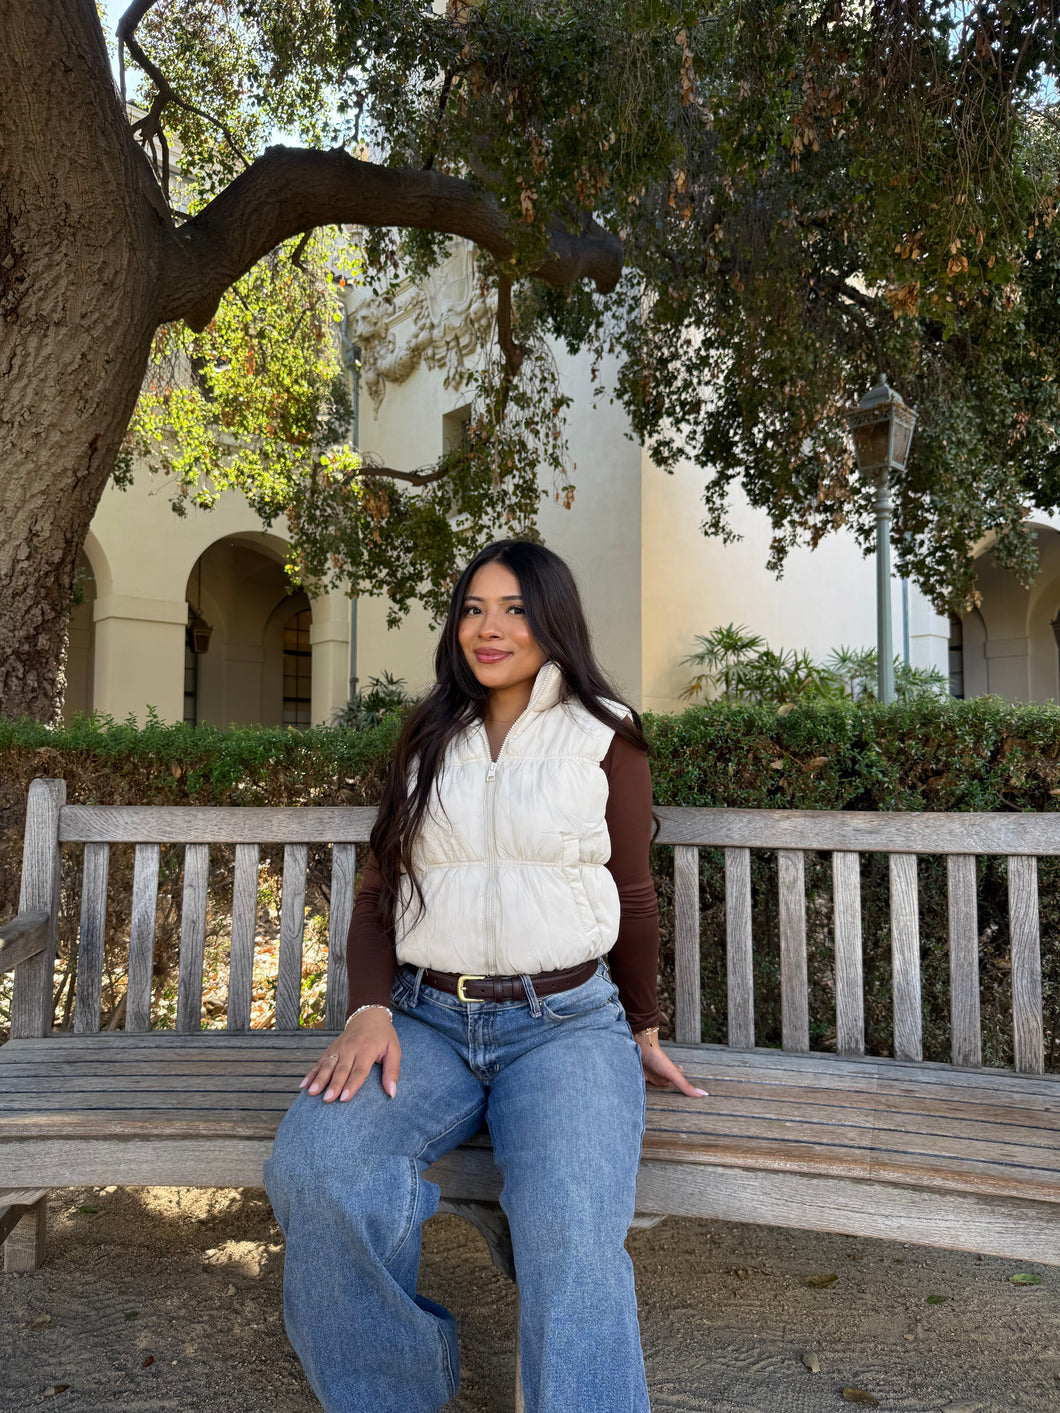
{"type": "Polygon", "coordinates": [[[184,721],[185,601],[107,593],[96,599],[93,619],[93,711],[143,723],[154,706],[163,721],[184,721]]]}

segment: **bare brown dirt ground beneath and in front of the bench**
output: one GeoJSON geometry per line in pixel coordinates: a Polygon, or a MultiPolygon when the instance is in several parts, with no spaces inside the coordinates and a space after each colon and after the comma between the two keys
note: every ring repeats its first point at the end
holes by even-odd
{"type": "MultiPolygon", "coordinates": [[[[318,1409],[264,1193],[79,1188],[49,1215],[47,1265],[0,1277],[0,1409],[318,1409]]],[[[629,1248],[656,1413],[1060,1410],[1059,1267],[684,1219],[629,1248]]],[[[509,1413],[514,1297],[478,1232],[434,1218],[421,1287],[461,1327],[452,1413],[509,1413]]]]}

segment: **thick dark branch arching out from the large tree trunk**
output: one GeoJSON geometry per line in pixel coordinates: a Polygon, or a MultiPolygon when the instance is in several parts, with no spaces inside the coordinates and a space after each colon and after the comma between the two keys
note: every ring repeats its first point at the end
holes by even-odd
{"type": "MultiPolygon", "coordinates": [[[[314,226],[404,226],[462,236],[509,264],[507,218],[492,196],[437,171],[413,171],[329,153],[270,147],[196,216],[172,232],[161,321],[204,329],[225,290],[281,240],[314,226]]],[[[585,218],[572,235],[558,216],[530,276],[547,284],[594,280],[601,294],[622,274],[622,242],[585,218]]]]}

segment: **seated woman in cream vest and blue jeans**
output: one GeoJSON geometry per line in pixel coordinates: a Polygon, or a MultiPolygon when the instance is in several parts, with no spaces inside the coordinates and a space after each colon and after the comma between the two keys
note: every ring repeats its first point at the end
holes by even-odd
{"type": "Polygon", "coordinates": [[[536,544],[468,565],[435,671],[372,831],[346,1029],[266,1164],[287,1330],[328,1413],[454,1396],[452,1317],[416,1293],[438,1204],[423,1171],[485,1121],[527,1413],[643,1413],[623,1242],[644,1080],[702,1092],[659,1048],[644,739],[608,697],[570,569],[536,544]]]}

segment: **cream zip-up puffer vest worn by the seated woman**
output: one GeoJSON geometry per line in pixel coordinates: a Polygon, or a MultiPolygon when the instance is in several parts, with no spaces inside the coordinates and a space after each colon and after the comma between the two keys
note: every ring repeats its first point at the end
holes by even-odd
{"type": "Polygon", "coordinates": [[[414,852],[423,910],[404,880],[400,961],[514,975],[575,966],[615,942],[599,767],[615,732],[577,698],[561,702],[563,685],[546,663],[496,762],[481,723],[449,743],[414,852]]]}

